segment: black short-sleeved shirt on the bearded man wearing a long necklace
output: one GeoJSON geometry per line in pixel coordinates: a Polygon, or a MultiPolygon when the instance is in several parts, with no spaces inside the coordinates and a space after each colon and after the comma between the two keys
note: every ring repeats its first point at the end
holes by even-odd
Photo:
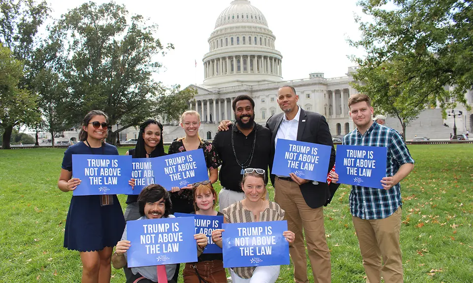
{"type": "Polygon", "coordinates": [[[271,149],[271,131],[270,129],[255,123],[255,127],[248,136],[245,136],[235,125],[230,125],[227,131],[219,131],[213,140],[213,146],[217,151],[220,159],[222,159],[222,167],[220,167],[220,184],[225,189],[241,192],[240,182],[243,177],[241,174],[241,166],[243,168],[261,168],[266,170],[266,182],[268,183],[268,164],[270,161],[271,149]],[[232,133],[234,139],[235,154],[232,148],[232,133]],[[253,158],[250,157],[253,140],[255,139],[255,148],[253,158]],[[249,162],[248,157],[251,158],[249,162]],[[245,161],[247,161],[244,163],[245,161]]]}

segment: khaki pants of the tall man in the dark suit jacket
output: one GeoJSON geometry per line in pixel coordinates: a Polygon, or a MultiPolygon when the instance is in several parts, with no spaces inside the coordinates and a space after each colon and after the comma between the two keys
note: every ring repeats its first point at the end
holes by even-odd
{"type": "Polygon", "coordinates": [[[286,212],[284,219],[290,231],[296,234],[289,253],[294,262],[294,280],[297,283],[308,283],[307,256],[305,242],[312,267],[315,283],[331,282],[330,252],[325,238],[324,210],[322,207],[310,208],[302,196],[299,185],[294,182],[280,180],[274,182],[274,201],[286,212]]]}

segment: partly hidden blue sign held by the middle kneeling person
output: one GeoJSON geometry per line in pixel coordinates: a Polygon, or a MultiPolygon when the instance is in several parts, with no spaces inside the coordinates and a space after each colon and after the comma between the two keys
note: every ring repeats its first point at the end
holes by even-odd
{"type": "Polygon", "coordinates": [[[223,216],[198,215],[188,213],[174,213],[175,217],[194,217],[196,225],[196,234],[203,233],[207,235],[207,246],[203,253],[222,253],[222,248],[215,245],[212,241],[212,231],[221,229],[223,216]]]}

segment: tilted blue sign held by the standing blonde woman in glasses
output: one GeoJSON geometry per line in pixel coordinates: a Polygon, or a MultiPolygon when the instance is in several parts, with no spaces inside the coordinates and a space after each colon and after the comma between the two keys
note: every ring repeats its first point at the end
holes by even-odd
{"type": "Polygon", "coordinates": [[[203,149],[150,159],[156,183],[167,190],[208,180],[203,149]]]}

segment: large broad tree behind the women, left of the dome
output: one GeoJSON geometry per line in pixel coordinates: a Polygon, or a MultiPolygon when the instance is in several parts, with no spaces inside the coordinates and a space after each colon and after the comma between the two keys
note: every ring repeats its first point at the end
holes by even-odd
{"type": "Polygon", "coordinates": [[[128,18],[125,6],[84,3],[61,17],[50,38],[62,44],[69,124],[101,109],[110,125],[121,125],[107,137],[112,144],[120,131],[152,117],[153,101],[166,89],[151,77],[161,67],[154,57],[174,48],[154,37],[157,25],[139,15],[128,18]]]}

